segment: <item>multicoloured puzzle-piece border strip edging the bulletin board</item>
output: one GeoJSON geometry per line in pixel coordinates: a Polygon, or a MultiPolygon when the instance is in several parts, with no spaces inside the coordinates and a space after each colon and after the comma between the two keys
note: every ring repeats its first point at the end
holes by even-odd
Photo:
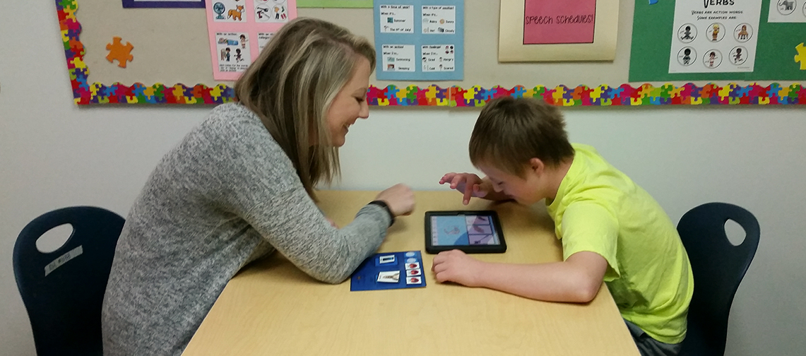
{"type": "MultiPolygon", "coordinates": [[[[89,84],[89,68],[84,62],[84,45],[79,39],[81,23],[78,22],[78,0],[55,0],[59,19],[64,56],[67,60],[73,99],[77,105],[97,104],[184,104],[206,105],[235,101],[235,90],[225,84],[193,86],[177,83],[166,86],[162,83],[131,86],[115,82],[89,84]]],[[[511,89],[494,85],[484,88],[459,85],[442,88],[438,85],[387,85],[368,89],[368,104],[371,106],[470,106],[482,107],[496,97],[542,97],[555,106],[661,106],[661,105],[806,105],[806,83],[792,83],[783,87],[771,83],[766,87],[751,83],[746,86],[730,83],[725,86],[706,84],[702,87],[687,83],[680,87],[664,84],[654,87],[643,84],[558,85],[548,88],[543,85],[528,87],[515,85],[511,89]],[[470,97],[467,94],[470,93],[470,97]],[[391,94],[391,95],[390,95],[391,94]]]]}

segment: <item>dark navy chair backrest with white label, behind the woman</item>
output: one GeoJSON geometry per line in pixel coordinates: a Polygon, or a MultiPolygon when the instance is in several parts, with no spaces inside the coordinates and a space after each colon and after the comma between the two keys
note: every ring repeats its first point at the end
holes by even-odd
{"type": "Polygon", "coordinates": [[[36,353],[102,354],[101,307],[123,217],[90,206],[36,217],[14,246],[14,275],[31,320],[36,353]],[[50,253],[36,240],[56,226],[73,234],[50,253]]]}

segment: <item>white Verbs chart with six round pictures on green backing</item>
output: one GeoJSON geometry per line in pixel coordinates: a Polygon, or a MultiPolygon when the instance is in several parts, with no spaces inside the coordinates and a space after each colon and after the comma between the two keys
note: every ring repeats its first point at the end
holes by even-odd
{"type": "Polygon", "coordinates": [[[669,72],[753,72],[760,17],[761,0],[677,0],[669,72]]]}

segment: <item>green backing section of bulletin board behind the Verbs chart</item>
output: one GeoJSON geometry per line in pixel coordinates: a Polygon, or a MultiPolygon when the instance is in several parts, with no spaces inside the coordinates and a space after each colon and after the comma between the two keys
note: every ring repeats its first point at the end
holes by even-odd
{"type": "Polygon", "coordinates": [[[635,2],[633,39],[629,54],[629,81],[802,81],[794,58],[796,46],[806,43],[806,23],[767,23],[770,1],[762,0],[753,72],[669,73],[669,51],[675,2],[635,2]]]}

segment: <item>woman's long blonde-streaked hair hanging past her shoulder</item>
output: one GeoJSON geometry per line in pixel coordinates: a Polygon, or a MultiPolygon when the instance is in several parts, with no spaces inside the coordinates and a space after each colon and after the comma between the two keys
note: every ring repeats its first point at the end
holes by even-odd
{"type": "Polygon", "coordinates": [[[368,39],[320,19],[285,24],[235,82],[235,97],[260,120],[289,156],[305,191],[340,175],[326,113],[350,80],[356,56],[375,68],[368,39]]]}

